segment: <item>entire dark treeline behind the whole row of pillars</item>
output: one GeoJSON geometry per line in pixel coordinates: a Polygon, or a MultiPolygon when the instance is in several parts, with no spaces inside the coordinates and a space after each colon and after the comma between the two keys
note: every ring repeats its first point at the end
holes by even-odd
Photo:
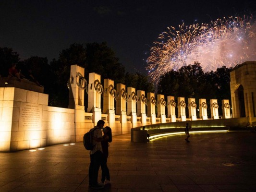
{"type": "MultiPolygon", "coordinates": [[[[73,64],[85,68],[87,80],[90,72],[96,72],[101,75],[102,84],[104,79],[109,78],[114,80],[115,84],[122,83],[126,87],[132,86],[146,93],[155,92],[147,75],[125,72],[115,52],[105,42],[74,43],[69,48],[63,49],[58,59],[51,61],[38,56],[20,60],[19,54],[12,48],[0,48],[1,76],[8,75],[12,63],[17,63],[17,68],[24,75],[28,69],[33,71],[40,84],[44,85],[44,92],[49,95],[49,106],[67,108],[69,96],[67,81],[70,77],[70,66],[73,64]]],[[[172,70],[161,77],[156,94],[175,96],[176,99],[183,96],[186,103],[188,98],[196,98],[197,106],[199,98],[206,98],[209,110],[210,99],[218,99],[219,106],[222,99],[231,99],[230,71],[231,68],[223,66],[216,72],[203,72],[200,63],[183,66],[178,71],[172,70]]],[[[86,97],[85,94],[85,100],[86,97]]],[[[220,110],[219,112],[221,113],[220,110]]]]}

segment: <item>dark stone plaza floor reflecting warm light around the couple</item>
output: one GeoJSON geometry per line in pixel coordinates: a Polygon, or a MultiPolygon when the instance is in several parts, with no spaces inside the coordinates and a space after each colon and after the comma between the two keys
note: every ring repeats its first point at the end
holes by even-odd
{"type": "Polygon", "coordinates": [[[101,190],[88,187],[90,158],[81,142],[0,153],[0,192],[256,192],[256,133],[184,138],[131,143],[130,134],[114,136],[112,184],[101,190]]]}

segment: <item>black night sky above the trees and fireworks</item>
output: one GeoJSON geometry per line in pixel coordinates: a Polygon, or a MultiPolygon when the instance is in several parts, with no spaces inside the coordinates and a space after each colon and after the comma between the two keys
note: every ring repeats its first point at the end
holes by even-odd
{"type": "Polygon", "coordinates": [[[255,0],[0,0],[0,47],[50,61],[73,43],[107,42],[126,72],[145,73],[167,27],[255,13],[255,0]]]}

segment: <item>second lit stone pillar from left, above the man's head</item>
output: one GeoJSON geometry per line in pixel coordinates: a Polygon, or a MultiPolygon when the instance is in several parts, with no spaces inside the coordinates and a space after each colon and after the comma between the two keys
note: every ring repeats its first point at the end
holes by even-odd
{"type": "Polygon", "coordinates": [[[101,120],[100,95],[103,93],[103,86],[100,84],[100,75],[89,73],[88,108],[87,112],[93,113],[92,120],[96,125],[101,120]]]}

